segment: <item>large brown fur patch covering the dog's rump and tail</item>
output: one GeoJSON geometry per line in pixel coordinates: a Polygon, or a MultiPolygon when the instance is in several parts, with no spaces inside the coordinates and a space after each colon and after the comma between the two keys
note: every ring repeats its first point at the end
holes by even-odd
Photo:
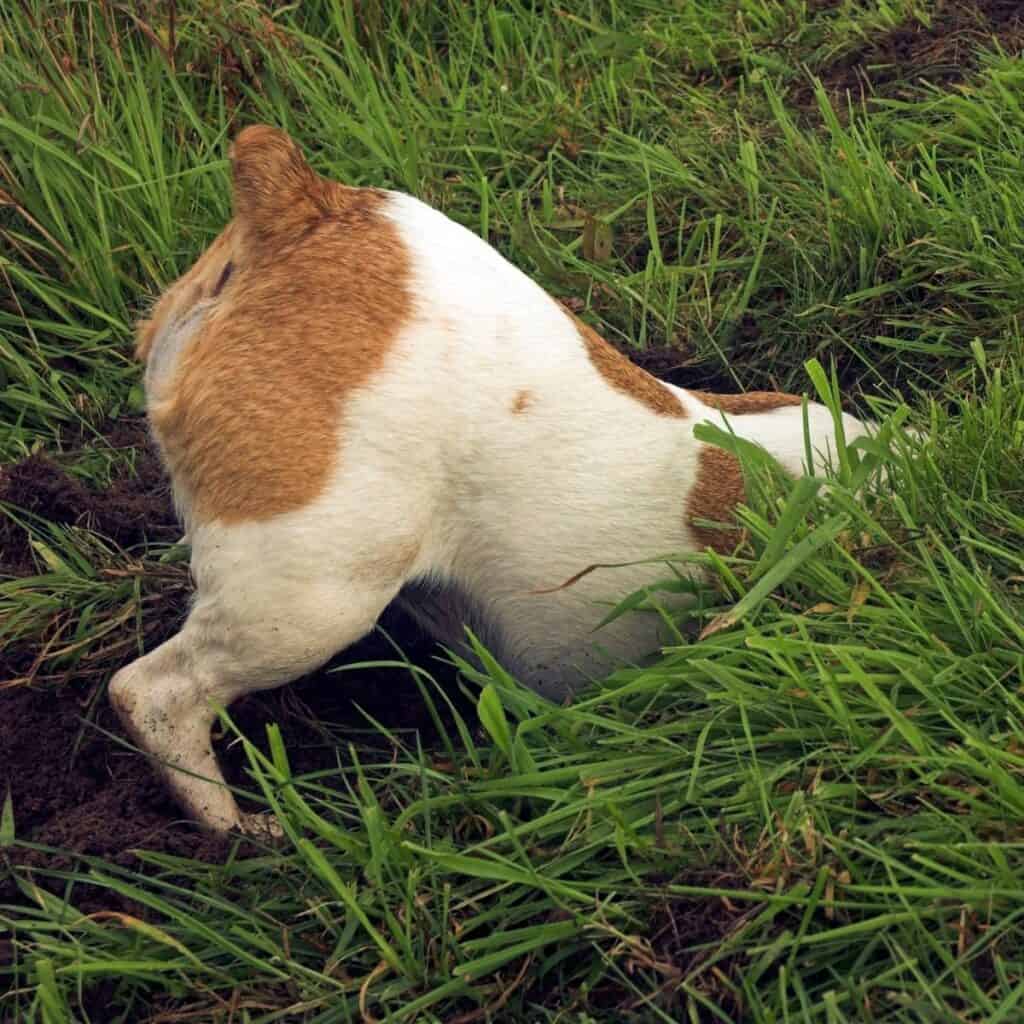
{"type": "Polygon", "coordinates": [[[382,367],[412,304],[409,257],[386,198],[317,177],[275,129],[232,150],[236,219],[172,293],[210,295],[170,396],[151,419],[199,520],[265,519],[307,505],[335,466],[345,399],[382,367]],[[217,255],[214,255],[217,254],[217,255]]]}

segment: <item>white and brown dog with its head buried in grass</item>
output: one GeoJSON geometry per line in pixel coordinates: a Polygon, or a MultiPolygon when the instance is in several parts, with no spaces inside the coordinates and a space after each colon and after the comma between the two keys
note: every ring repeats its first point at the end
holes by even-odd
{"type": "MultiPolygon", "coordinates": [[[[742,501],[740,467],[694,426],[724,414],[795,476],[806,447],[800,397],[655,379],[471,231],[321,177],[275,128],[244,129],[230,165],[231,221],[137,333],[194,603],[110,696],[188,815],[264,831],[217,766],[218,707],[322,666],[395,598],[561,700],[664,643],[656,614],[594,631],[665,565],[560,584],[735,544],[707,521],[742,501]]],[[[834,423],[807,416],[817,471],[834,423]]]]}

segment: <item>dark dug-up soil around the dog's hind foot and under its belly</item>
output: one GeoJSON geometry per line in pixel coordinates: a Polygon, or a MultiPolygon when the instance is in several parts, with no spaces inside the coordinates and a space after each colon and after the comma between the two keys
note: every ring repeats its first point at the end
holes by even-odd
{"type": "MultiPolygon", "coordinates": [[[[414,664],[450,684],[449,695],[472,721],[472,706],[459,697],[452,670],[440,663],[433,642],[397,610],[389,609],[381,625],[414,664]]],[[[278,723],[297,774],[337,769],[338,751],[324,724],[369,729],[360,709],[407,737],[418,731],[430,745],[436,741],[434,723],[408,671],[331,672],[345,664],[395,656],[386,638],[373,634],[313,676],[242,698],[230,709],[231,718],[263,749],[266,725],[278,723]]],[[[220,737],[216,744],[224,774],[231,784],[253,788],[245,753],[232,738],[220,737]]],[[[382,757],[387,756],[383,739],[378,742],[382,757]]],[[[52,855],[15,849],[12,864],[66,868],[75,854],[87,854],[127,866],[137,863],[136,848],[211,861],[222,860],[227,852],[225,841],[182,819],[148,761],[126,745],[121,725],[95,684],[70,681],[0,690],[0,797],[9,786],[17,838],[66,851],[52,855]]],[[[10,879],[5,884],[0,866],[0,903],[13,897],[10,879]]],[[[110,908],[109,894],[97,893],[97,899],[110,908]]]]}

